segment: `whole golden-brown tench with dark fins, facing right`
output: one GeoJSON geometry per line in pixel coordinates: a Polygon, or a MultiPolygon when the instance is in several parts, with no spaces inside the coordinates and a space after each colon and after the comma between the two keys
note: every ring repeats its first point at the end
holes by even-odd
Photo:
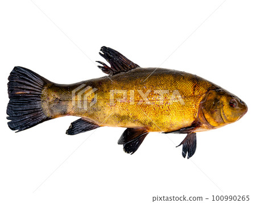
{"type": "MultiPolygon", "coordinates": [[[[14,67],[7,106],[11,130],[26,130],[49,119],[81,117],[68,135],[98,127],[125,127],[118,140],[129,154],[137,151],[148,132],[187,134],[182,155],[196,151],[196,132],[236,122],[247,112],[245,102],[195,74],[164,68],[141,68],[112,48],[100,55],[109,65],[98,67],[108,76],[71,85],[56,84],[14,67]]],[[[180,146],[179,145],[179,146],[180,146]]]]}

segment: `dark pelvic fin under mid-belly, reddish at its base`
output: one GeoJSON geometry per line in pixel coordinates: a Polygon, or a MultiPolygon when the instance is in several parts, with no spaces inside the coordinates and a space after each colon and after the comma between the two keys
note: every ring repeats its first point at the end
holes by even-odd
{"type": "Polygon", "coordinates": [[[118,144],[123,144],[123,151],[128,154],[134,154],[146,138],[148,131],[146,129],[126,129],[118,140],[118,144]]]}

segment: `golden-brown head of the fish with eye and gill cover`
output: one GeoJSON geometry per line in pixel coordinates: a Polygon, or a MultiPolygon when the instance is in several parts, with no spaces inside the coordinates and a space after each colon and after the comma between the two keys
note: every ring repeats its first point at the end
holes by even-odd
{"type": "Polygon", "coordinates": [[[224,89],[210,90],[202,101],[204,118],[213,127],[238,121],[247,112],[247,105],[224,89]]]}

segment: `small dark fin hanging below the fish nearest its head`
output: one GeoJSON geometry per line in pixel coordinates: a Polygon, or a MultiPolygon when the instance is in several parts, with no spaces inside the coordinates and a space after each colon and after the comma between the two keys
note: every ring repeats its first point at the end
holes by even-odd
{"type": "Polygon", "coordinates": [[[177,146],[182,146],[182,156],[185,158],[188,152],[188,159],[191,158],[196,152],[196,133],[189,132],[185,139],[177,146]]]}

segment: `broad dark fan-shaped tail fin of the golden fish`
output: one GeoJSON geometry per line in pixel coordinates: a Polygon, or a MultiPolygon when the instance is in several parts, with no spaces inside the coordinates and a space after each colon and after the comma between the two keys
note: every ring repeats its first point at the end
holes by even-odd
{"type": "Polygon", "coordinates": [[[49,118],[41,107],[41,94],[49,81],[27,68],[14,67],[8,78],[8,126],[11,130],[26,130],[49,118]]]}

